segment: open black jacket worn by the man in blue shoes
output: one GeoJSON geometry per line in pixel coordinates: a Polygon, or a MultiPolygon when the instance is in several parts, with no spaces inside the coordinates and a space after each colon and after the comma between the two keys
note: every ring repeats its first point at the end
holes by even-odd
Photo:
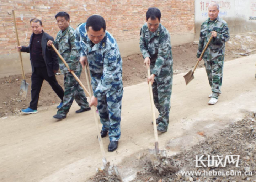
{"type": "MultiPolygon", "coordinates": [[[[31,51],[31,43],[33,40],[33,33],[30,37],[30,44],[28,47],[22,46],[21,47],[21,52],[26,52],[26,53],[30,53],[31,51]]],[[[46,69],[47,69],[47,73],[48,76],[53,76],[53,70],[59,70],[59,62],[58,62],[58,55],[55,53],[55,51],[52,49],[47,49],[47,42],[51,40],[54,41],[54,38],[52,36],[49,36],[49,34],[45,33],[43,31],[43,36],[42,36],[42,40],[41,40],[41,45],[42,45],[42,54],[43,54],[43,58],[44,58],[44,62],[46,63],[46,69]]],[[[31,62],[31,66],[32,66],[32,71],[34,72],[34,66],[31,60],[31,53],[30,53],[30,62],[31,62]]]]}

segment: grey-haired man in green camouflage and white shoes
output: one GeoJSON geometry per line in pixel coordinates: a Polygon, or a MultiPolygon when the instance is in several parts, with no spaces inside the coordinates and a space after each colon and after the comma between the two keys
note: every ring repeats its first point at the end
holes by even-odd
{"type": "Polygon", "coordinates": [[[221,93],[220,87],[222,85],[225,42],[229,40],[228,25],[222,18],[218,17],[218,14],[219,5],[212,2],[208,7],[209,18],[201,26],[197,51],[197,58],[201,61],[202,58],[199,59],[199,57],[210,37],[213,37],[203,55],[204,66],[209,84],[212,88],[212,94],[209,95],[209,98],[211,98],[208,102],[209,105],[215,104],[221,93]]]}

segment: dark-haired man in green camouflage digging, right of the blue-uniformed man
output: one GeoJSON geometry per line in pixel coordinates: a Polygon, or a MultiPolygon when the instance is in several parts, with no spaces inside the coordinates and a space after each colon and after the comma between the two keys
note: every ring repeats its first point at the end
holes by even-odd
{"type": "Polygon", "coordinates": [[[159,116],[156,119],[159,132],[167,132],[171,109],[171,92],[173,77],[173,59],[168,30],[160,23],[161,12],[149,8],[146,12],[146,23],[140,33],[140,52],[144,63],[150,66],[153,98],[159,116]]]}

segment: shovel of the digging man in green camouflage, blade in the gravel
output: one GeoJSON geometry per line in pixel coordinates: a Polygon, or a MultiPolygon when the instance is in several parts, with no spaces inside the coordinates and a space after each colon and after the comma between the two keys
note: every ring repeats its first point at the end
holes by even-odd
{"type": "MultiPolygon", "coordinates": [[[[148,77],[150,77],[150,68],[148,68],[148,77]]],[[[165,150],[159,150],[158,148],[158,133],[156,128],[156,117],[155,117],[155,108],[154,108],[154,100],[153,100],[153,91],[152,91],[152,84],[151,82],[149,85],[149,95],[150,95],[150,103],[151,103],[151,111],[153,117],[153,128],[154,128],[154,136],[155,136],[155,149],[148,149],[152,164],[154,161],[159,160],[158,156],[166,156],[165,150]]]]}

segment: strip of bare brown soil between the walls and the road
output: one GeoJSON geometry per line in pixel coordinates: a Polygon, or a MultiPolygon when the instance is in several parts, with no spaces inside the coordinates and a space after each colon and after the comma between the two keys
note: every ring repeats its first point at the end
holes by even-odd
{"type": "MultiPolygon", "coordinates": [[[[231,36],[226,43],[225,61],[234,60],[242,57],[233,52],[244,53],[256,47],[256,33],[247,33],[242,35],[231,36]]],[[[196,64],[196,52],[198,45],[196,42],[178,45],[172,47],[172,54],[174,58],[174,74],[187,73],[196,64]]],[[[133,54],[123,59],[123,84],[124,87],[139,84],[146,80],[146,69],[143,64],[142,55],[133,54]]],[[[198,67],[203,67],[201,61],[198,67]]],[[[64,88],[63,75],[56,75],[59,84],[64,88]]],[[[15,75],[0,79],[0,117],[8,115],[16,115],[21,112],[21,109],[27,108],[30,103],[31,90],[31,73],[26,74],[26,82],[30,85],[28,87],[27,98],[23,99],[18,96],[21,85],[21,75],[15,75]]],[[[85,75],[81,75],[81,81],[87,87],[85,75]]],[[[51,105],[58,105],[60,99],[54,93],[47,82],[43,83],[38,109],[51,105]]]]}

